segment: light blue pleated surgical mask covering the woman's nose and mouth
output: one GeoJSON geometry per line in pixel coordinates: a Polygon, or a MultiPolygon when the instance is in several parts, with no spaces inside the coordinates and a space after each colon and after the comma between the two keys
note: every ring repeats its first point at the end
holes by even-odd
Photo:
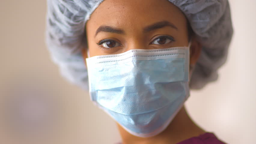
{"type": "Polygon", "coordinates": [[[86,62],[91,100],[138,137],[162,132],[189,96],[189,46],[132,49],[86,62]]]}

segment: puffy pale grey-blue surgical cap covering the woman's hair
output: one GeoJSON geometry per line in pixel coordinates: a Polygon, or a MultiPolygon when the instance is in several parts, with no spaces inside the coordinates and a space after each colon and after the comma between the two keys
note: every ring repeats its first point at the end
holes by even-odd
{"type": "MultiPolygon", "coordinates": [[[[46,44],[62,76],[88,89],[87,68],[82,56],[85,23],[103,0],[47,0],[46,44]]],[[[202,52],[190,79],[199,89],[218,78],[233,35],[227,0],[168,0],[184,13],[202,52]]],[[[171,14],[170,14],[171,16],[171,14]]]]}

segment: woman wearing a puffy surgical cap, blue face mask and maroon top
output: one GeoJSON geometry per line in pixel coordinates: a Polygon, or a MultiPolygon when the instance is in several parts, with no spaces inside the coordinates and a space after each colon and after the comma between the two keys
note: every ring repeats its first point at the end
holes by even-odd
{"type": "Polygon", "coordinates": [[[53,60],[69,80],[89,84],[123,144],[223,143],[184,102],[189,88],[217,79],[232,33],[225,0],[48,0],[53,60]]]}

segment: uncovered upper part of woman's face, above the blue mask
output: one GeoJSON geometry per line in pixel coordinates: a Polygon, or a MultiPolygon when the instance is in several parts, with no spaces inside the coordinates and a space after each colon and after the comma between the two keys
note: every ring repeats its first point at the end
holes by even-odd
{"type": "Polygon", "coordinates": [[[186,18],[167,0],[104,0],[87,21],[86,32],[90,57],[188,46],[186,18]]]}

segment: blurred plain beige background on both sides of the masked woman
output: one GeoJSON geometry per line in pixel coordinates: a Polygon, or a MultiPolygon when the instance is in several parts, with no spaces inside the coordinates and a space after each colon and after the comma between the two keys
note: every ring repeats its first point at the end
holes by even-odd
{"type": "MultiPolygon", "coordinates": [[[[230,144],[256,143],[256,1],[230,1],[234,37],[219,79],[186,102],[191,117],[230,144]]],[[[44,44],[46,1],[0,4],[0,143],[113,144],[114,121],[66,82],[44,44]]]]}

